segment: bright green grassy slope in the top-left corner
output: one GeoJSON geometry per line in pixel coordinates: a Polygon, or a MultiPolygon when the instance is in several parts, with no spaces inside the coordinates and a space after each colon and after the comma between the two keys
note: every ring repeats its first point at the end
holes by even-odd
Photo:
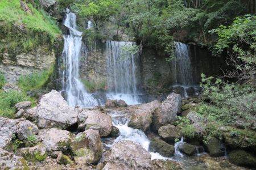
{"type": "Polygon", "coordinates": [[[60,33],[55,20],[42,9],[19,0],[0,2],[0,37],[7,42],[0,49],[9,50],[13,56],[39,44],[53,44],[60,33]]]}

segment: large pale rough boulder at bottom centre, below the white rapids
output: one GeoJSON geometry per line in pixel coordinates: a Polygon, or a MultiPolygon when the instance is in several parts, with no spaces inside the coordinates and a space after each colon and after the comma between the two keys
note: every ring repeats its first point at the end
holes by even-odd
{"type": "Polygon", "coordinates": [[[139,144],[131,141],[115,143],[106,156],[103,169],[153,169],[151,155],[139,144]]]}

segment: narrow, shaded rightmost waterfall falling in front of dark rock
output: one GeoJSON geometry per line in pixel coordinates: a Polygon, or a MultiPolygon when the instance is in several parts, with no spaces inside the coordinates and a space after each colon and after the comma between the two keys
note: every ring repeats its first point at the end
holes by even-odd
{"type": "Polygon", "coordinates": [[[174,42],[175,58],[172,61],[173,82],[181,86],[195,84],[189,54],[189,46],[181,42],[174,42]]]}

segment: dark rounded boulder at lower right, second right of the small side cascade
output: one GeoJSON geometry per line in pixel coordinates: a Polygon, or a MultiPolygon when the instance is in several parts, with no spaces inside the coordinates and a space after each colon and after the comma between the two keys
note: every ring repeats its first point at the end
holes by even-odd
{"type": "Polygon", "coordinates": [[[209,152],[210,156],[217,157],[217,156],[224,156],[225,155],[225,148],[221,145],[220,140],[215,137],[210,137],[208,143],[205,144],[205,148],[207,152],[209,152]]]}

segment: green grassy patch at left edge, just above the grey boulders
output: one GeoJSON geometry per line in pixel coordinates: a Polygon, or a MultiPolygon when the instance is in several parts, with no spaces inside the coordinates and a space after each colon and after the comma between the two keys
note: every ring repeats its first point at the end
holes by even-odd
{"type": "Polygon", "coordinates": [[[14,105],[20,101],[35,101],[20,91],[0,91],[0,116],[12,118],[15,113],[14,105]]]}

